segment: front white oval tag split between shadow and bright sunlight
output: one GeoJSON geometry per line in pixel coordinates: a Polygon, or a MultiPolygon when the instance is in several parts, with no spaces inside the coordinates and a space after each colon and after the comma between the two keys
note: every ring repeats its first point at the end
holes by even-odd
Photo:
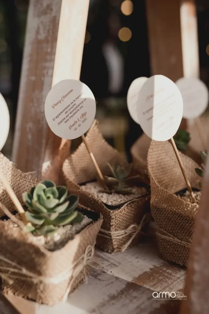
{"type": "Polygon", "coordinates": [[[150,138],[167,141],[177,132],[183,113],[181,93],[174,82],[154,75],[144,83],[137,100],[138,121],[150,138]]]}

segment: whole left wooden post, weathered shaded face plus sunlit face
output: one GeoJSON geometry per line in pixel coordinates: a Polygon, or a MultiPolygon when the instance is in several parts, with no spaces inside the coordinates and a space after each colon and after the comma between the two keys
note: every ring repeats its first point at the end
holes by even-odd
{"type": "Polygon", "coordinates": [[[38,179],[61,144],[47,125],[44,102],[52,85],[80,77],[88,6],[88,0],[30,1],[12,159],[38,179]]]}

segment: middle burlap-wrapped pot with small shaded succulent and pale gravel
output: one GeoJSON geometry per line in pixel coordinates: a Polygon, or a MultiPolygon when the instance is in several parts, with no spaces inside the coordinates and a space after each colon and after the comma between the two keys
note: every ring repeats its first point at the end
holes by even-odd
{"type": "Polygon", "coordinates": [[[147,225],[149,192],[132,165],[102,137],[97,121],[86,136],[91,151],[104,175],[104,188],[97,181],[97,172],[84,143],[63,164],[69,191],[79,195],[82,205],[103,216],[97,246],[106,252],[124,251],[137,243],[147,225]]]}

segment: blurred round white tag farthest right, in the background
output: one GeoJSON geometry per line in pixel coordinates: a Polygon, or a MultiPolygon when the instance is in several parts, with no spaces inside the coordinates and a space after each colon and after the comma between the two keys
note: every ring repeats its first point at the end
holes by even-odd
{"type": "Polygon", "coordinates": [[[208,105],[207,86],[198,78],[180,78],[176,81],[183,102],[183,117],[194,119],[206,110],[208,105]]]}

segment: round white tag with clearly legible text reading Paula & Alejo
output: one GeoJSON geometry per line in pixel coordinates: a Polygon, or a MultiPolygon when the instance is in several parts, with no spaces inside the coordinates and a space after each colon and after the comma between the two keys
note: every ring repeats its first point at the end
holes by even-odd
{"type": "Polygon", "coordinates": [[[57,136],[74,139],[91,127],[96,101],[91,89],[81,81],[65,79],[55,84],[45,101],[45,116],[57,136]]]}

